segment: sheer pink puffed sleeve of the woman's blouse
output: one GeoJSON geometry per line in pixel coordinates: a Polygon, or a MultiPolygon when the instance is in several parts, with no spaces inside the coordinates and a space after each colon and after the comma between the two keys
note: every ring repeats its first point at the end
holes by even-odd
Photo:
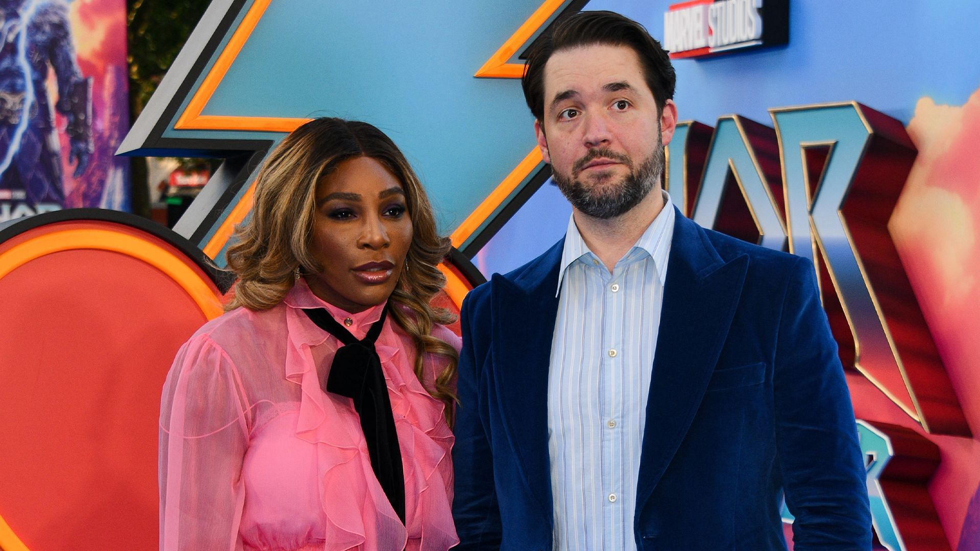
{"type": "Polygon", "coordinates": [[[173,361],[160,408],[160,548],[236,550],[247,408],[235,366],[207,334],[173,361]]]}

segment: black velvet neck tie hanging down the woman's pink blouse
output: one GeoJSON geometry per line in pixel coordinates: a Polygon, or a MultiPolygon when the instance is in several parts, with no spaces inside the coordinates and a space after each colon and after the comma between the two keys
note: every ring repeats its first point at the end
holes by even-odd
{"type": "Polygon", "coordinates": [[[361,416],[361,429],[368,441],[370,466],[381,489],[388,496],[398,518],[405,523],[405,474],[402,472],[402,451],[398,446],[395,418],[391,411],[388,386],[381,371],[381,359],[374,350],[374,341],[388,315],[387,305],[381,318],[358,340],[323,308],[303,311],[319,328],[344,343],[337,349],[323,389],[354,399],[354,409],[361,416]]]}

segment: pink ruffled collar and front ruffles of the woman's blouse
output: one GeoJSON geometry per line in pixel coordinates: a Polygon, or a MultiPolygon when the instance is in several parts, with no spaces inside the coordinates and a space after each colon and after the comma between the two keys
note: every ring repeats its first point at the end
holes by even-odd
{"type": "MultiPolygon", "coordinates": [[[[327,396],[320,389],[311,349],[333,337],[301,312],[303,308],[325,308],[341,324],[350,318],[352,324],[348,328],[355,336],[363,338],[371,324],[381,317],[384,305],[351,314],[320,300],[303,279],[296,282],[283,302],[288,307],[285,375],[301,388],[296,436],[318,446],[318,461],[322,464],[321,507],[327,517],[326,548],[349,549],[368,541],[369,530],[360,510],[338,507],[338,502],[331,499],[331,492],[340,491],[340,488],[346,488],[344,491],[351,493],[357,503],[372,503],[378,518],[386,517],[392,526],[404,530],[402,540],[405,541],[409,528],[401,526],[380,486],[369,481],[367,485],[354,484],[365,477],[370,479],[368,450],[361,444],[363,436],[359,426],[338,423],[345,415],[341,409],[347,411],[349,406],[341,405],[342,401],[327,396]]],[[[414,485],[407,488],[413,495],[409,517],[411,532],[415,537],[422,537],[420,549],[446,549],[459,542],[452,525],[448,492],[452,487],[452,471],[447,462],[453,433],[442,421],[442,405],[433,404],[431,396],[407,365],[405,351],[391,345],[398,342],[393,324],[389,316],[375,350],[392,396],[396,426],[403,423],[411,426],[407,433],[404,426],[399,431],[403,458],[408,458],[405,476],[414,485]],[[405,369],[398,369],[400,363],[406,364],[405,369]]],[[[346,415],[349,414],[347,411],[346,415]]],[[[409,502],[406,506],[409,507],[409,502]]]]}

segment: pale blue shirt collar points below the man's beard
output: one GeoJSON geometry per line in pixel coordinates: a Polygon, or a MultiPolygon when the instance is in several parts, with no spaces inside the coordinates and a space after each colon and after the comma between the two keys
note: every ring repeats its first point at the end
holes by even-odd
{"type": "MultiPolygon", "coordinates": [[[[661,277],[661,283],[663,283],[666,281],[667,257],[670,251],[670,239],[673,238],[674,208],[673,203],[670,201],[670,195],[663,190],[661,190],[661,193],[663,195],[663,208],[661,209],[661,212],[658,213],[657,218],[655,218],[654,221],[647,226],[647,229],[644,230],[643,234],[640,235],[640,238],[636,240],[636,243],[633,244],[630,250],[623,255],[623,258],[629,257],[637,250],[646,252],[653,259],[654,267],[657,269],[657,273],[661,277]]],[[[589,250],[589,246],[585,244],[585,239],[583,239],[582,234],[579,233],[578,225],[575,225],[575,217],[572,215],[568,217],[568,229],[564,234],[562,263],[558,273],[558,289],[556,289],[555,296],[558,296],[559,292],[562,290],[562,281],[568,267],[579,260],[582,262],[589,262],[590,258],[595,262],[598,262],[599,260],[595,253],[589,250]]],[[[622,259],[620,259],[620,261],[621,260],[622,259]]]]}

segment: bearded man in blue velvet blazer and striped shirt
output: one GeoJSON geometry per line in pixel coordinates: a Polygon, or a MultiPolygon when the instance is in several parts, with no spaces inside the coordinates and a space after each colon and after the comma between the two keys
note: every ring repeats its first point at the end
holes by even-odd
{"type": "Polygon", "coordinates": [[[868,549],[850,397],[812,265],[704,229],[660,189],[674,73],[609,12],[522,80],[572,205],[563,240],[463,307],[461,549],[868,549]]]}

